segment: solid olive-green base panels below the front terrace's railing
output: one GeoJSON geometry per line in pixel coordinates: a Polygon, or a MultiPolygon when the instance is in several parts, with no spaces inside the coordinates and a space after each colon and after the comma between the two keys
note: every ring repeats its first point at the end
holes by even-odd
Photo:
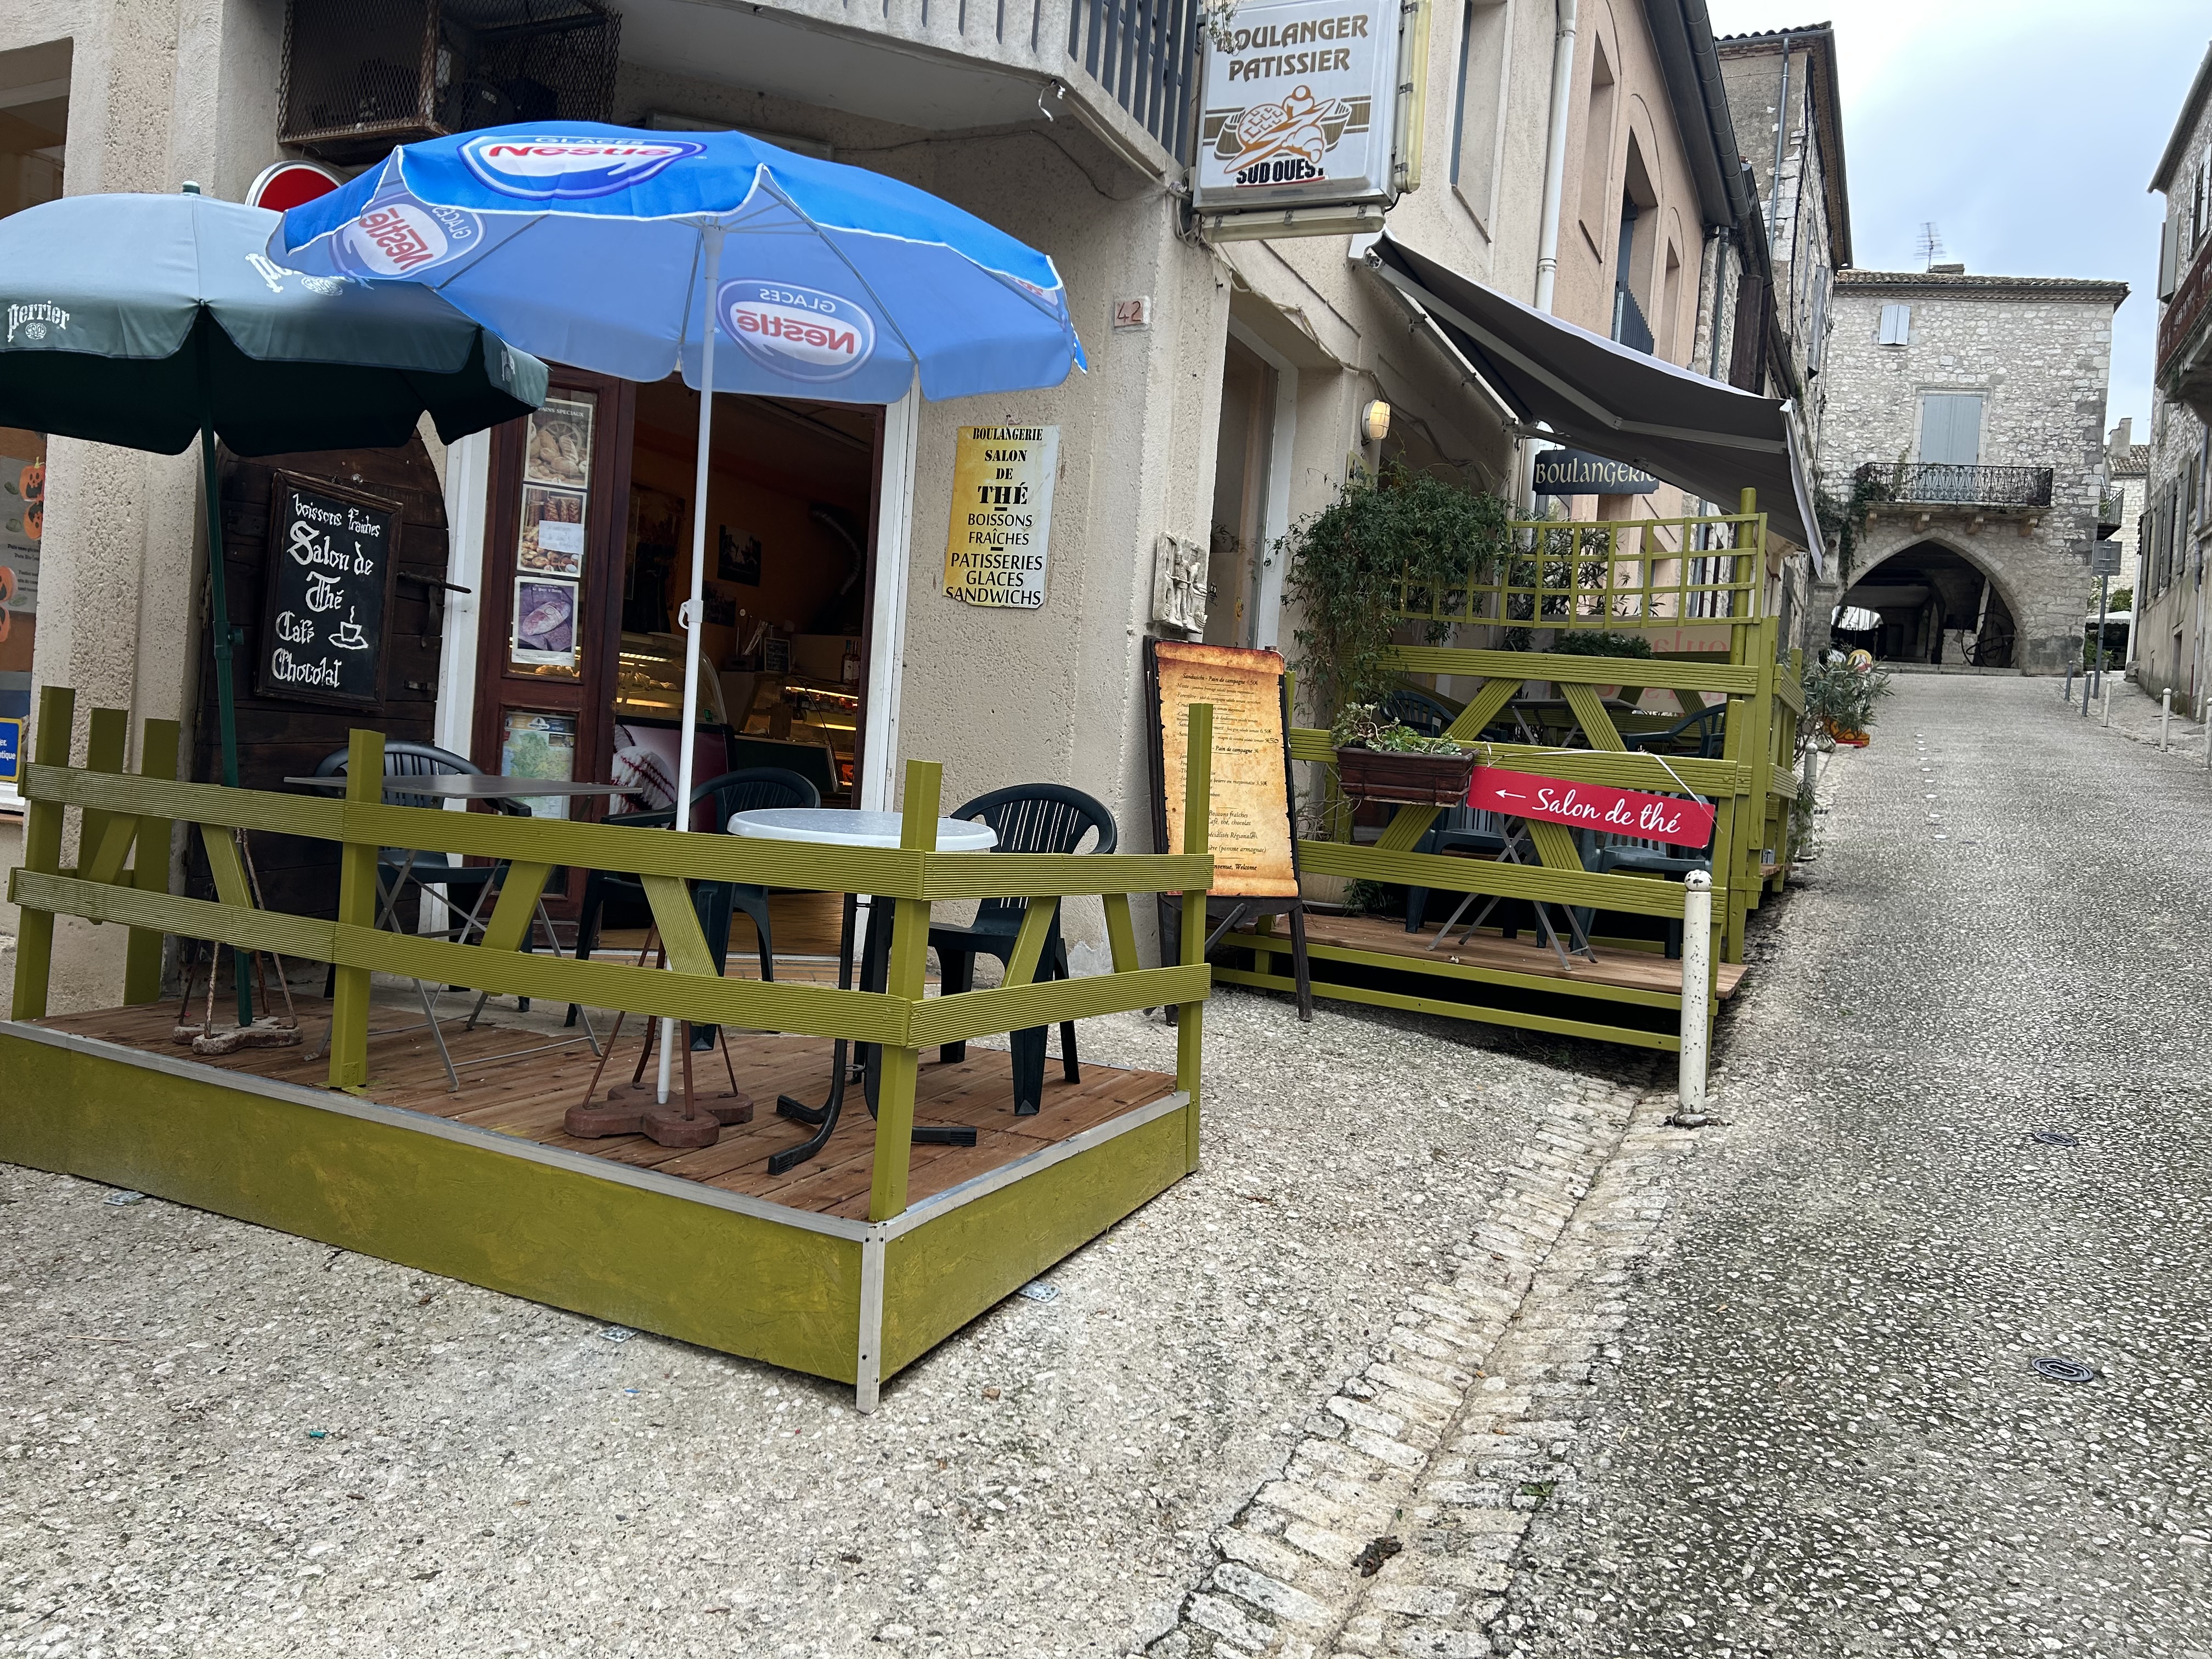
{"type": "Polygon", "coordinates": [[[860,1409],[1197,1141],[1177,1093],[869,1223],[15,1020],[0,1077],[9,1164],[847,1383],[860,1409]]]}

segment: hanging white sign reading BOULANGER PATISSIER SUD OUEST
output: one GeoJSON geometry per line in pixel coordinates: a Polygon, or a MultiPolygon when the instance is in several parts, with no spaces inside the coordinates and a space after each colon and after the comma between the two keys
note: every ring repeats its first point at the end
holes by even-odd
{"type": "Polygon", "coordinates": [[[1206,38],[1194,206],[1385,201],[1398,0],[1245,0],[1206,38]]]}

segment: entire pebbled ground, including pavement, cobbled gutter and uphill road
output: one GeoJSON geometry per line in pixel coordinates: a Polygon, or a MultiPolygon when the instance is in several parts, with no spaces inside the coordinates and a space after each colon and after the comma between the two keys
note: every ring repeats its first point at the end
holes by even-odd
{"type": "Polygon", "coordinates": [[[1900,677],[1708,1128],[1221,998],[1206,1170],[874,1418],[9,1172],[0,1650],[2203,1659],[2212,783],[2141,701],[1900,677]]]}

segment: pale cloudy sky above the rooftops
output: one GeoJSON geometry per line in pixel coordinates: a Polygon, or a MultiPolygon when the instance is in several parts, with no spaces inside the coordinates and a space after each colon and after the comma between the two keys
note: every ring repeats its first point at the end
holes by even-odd
{"type": "MultiPolygon", "coordinates": [[[[2148,434],[2161,197],[2150,173],[2212,38],[2205,0],[1708,0],[1714,33],[1834,22],[1851,254],[2119,276],[2110,418],[2148,434]]],[[[1747,133],[1736,135],[1750,144],[1747,133]]]]}

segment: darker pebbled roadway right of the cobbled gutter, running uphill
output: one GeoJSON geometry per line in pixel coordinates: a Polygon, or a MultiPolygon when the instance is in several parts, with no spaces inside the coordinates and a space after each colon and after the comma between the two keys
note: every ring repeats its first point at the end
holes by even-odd
{"type": "Polygon", "coordinates": [[[2212,774],[1900,677],[1823,801],[1489,1646],[2203,1659],[2212,774]]]}

